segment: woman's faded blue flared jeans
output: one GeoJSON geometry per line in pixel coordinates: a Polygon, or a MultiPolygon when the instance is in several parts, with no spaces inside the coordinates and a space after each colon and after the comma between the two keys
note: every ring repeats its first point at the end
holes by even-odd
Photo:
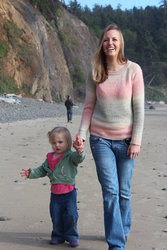
{"type": "Polygon", "coordinates": [[[109,250],[125,250],[131,228],[131,178],[134,159],[125,140],[90,136],[90,147],[103,193],[105,237],[109,250]]]}

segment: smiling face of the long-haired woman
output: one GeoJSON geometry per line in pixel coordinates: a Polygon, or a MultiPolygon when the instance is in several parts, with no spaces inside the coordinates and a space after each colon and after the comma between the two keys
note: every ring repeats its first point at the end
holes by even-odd
{"type": "Polygon", "coordinates": [[[103,38],[103,51],[106,57],[117,58],[121,49],[121,37],[118,30],[109,30],[103,38]]]}

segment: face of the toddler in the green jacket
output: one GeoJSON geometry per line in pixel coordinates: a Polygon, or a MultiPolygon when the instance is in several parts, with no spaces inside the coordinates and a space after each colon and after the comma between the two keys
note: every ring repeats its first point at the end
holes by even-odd
{"type": "Polygon", "coordinates": [[[53,151],[57,155],[64,154],[68,150],[67,140],[63,133],[56,133],[51,144],[53,151]]]}

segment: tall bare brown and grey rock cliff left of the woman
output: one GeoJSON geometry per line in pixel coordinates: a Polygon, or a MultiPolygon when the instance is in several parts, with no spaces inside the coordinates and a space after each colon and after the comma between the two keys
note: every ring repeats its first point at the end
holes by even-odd
{"type": "Polygon", "coordinates": [[[73,84],[82,92],[96,44],[85,24],[63,7],[56,19],[51,26],[28,0],[0,1],[0,41],[7,44],[1,73],[48,102],[73,96],[73,84]]]}

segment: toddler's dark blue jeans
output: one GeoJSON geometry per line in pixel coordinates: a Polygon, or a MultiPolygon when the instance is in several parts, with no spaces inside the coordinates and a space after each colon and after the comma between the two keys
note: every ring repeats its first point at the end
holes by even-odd
{"type": "Polygon", "coordinates": [[[53,194],[50,199],[50,215],[53,223],[52,240],[78,240],[77,192],[53,194]]]}

